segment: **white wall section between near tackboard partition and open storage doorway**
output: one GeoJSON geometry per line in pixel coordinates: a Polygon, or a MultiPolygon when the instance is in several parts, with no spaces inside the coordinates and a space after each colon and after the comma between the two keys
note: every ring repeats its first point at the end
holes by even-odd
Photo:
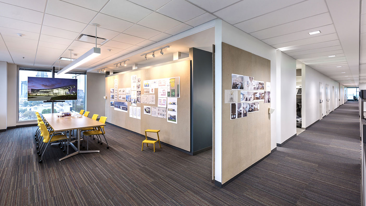
{"type": "Polygon", "coordinates": [[[281,52],[280,50],[277,50],[276,53],[277,53],[276,141],[277,143],[281,144],[291,136],[296,135],[296,60],[286,55],[285,53],[281,52]]]}

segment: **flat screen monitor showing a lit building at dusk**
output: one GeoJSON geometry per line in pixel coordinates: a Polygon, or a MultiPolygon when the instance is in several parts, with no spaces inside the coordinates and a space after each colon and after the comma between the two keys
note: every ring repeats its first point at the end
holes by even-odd
{"type": "Polygon", "coordinates": [[[78,80],[28,77],[28,101],[76,100],[78,80]]]}

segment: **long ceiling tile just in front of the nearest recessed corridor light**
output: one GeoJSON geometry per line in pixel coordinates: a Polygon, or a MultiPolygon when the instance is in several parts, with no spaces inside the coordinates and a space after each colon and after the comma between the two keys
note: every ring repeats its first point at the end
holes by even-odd
{"type": "MultiPolygon", "coordinates": [[[[296,20],[293,22],[285,23],[282,25],[270,27],[268,29],[255,31],[253,33],[250,33],[250,35],[262,40],[262,39],[267,39],[270,37],[277,37],[277,36],[284,35],[284,34],[294,33],[296,31],[304,31],[306,29],[312,29],[315,27],[321,27],[321,26],[330,25],[330,24],[333,24],[333,21],[330,18],[329,13],[323,13],[323,14],[311,16],[308,18],[296,20]]],[[[316,29],[312,29],[312,30],[317,31],[316,29]]],[[[323,32],[323,31],[321,30],[321,32],[323,32]]],[[[309,35],[309,34],[307,34],[307,35],[309,35]]],[[[317,35],[317,34],[314,34],[314,35],[317,35]]],[[[309,37],[310,37],[310,35],[309,35],[309,37]]]]}

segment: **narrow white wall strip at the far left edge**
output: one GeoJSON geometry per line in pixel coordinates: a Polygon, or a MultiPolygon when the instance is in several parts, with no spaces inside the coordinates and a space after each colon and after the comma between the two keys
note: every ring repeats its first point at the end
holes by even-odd
{"type": "Polygon", "coordinates": [[[5,101],[0,101],[0,130],[5,130],[7,128],[7,94],[8,94],[8,91],[7,91],[7,83],[8,83],[8,80],[7,80],[7,63],[6,61],[0,61],[0,73],[1,73],[1,76],[0,76],[0,88],[1,88],[1,97],[2,98],[5,98],[5,101]]]}

